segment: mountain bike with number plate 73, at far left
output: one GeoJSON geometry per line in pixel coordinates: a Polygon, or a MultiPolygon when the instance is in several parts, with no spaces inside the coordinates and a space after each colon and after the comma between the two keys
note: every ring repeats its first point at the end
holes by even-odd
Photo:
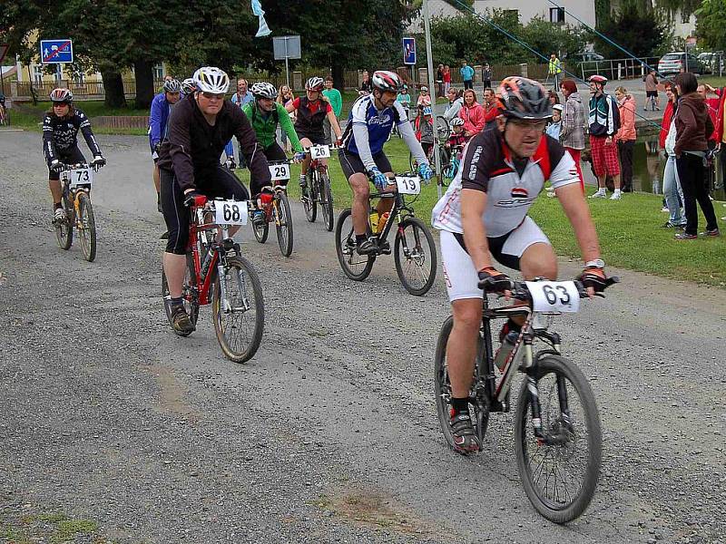
{"type": "Polygon", "coordinates": [[[91,205],[93,174],[101,170],[98,165],[67,164],[60,172],[63,183],[61,203],[65,217],[54,221],[55,238],[61,249],[70,249],[74,243],[74,228],[81,241],[83,258],[88,262],[96,257],[96,222],[91,205]]]}

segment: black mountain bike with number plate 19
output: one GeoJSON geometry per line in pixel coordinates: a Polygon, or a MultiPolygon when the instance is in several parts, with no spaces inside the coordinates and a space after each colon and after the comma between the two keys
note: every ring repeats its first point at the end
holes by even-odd
{"type": "Polygon", "coordinates": [[[335,229],[338,262],[346,276],[363,281],[376,258],[390,254],[388,233],[395,226],[393,255],[398,279],[411,295],[423,296],[437,276],[437,248],[426,224],[414,215],[413,203],[421,192],[421,179],[410,172],[398,174],[389,187],[389,191],[372,193],[368,198],[368,238],[375,240],[376,253],[358,255],[352,211],[348,208],[338,216],[335,229]],[[407,201],[409,197],[412,199],[407,201]],[[374,199],[394,199],[388,217],[384,214],[378,218],[378,210],[371,206],[374,199]]]}

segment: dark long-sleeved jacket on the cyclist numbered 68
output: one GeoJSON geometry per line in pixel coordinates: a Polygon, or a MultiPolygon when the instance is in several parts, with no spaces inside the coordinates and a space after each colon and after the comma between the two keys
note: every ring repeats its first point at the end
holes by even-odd
{"type": "Polygon", "coordinates": [[[203,180],[217,170],[221,152],[232,136],[240,142],[250,169],[252,192],[270,185],[270,170],[255,131],[235,104],[225,100],[212,126],[191,94],[172,108],[168,131],[169,139],[162,142],[157,164],[161,169],[173,170],[182,191],[195,189],[197,178],[203,180]]]}

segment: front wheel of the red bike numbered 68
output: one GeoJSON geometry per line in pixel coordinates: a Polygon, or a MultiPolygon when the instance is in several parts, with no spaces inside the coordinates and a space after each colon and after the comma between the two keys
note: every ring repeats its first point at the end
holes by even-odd
{"type": "Polygon", "coordinates": [[[265,302],[260,278],[246,258],[227,258],[224,277],[218,275],[214,282],[211,313],[222,353],[235,363],[249,361],[262,340],[265,302]],[[223,299],[221,281],[225,284],[223,299]]]}

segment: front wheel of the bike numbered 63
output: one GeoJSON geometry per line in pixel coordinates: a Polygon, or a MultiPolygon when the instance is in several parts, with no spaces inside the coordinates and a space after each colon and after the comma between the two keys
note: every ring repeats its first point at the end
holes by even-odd
{"type": "Polygon", "coordinates": [[[515,451],[527,498],[544,518],[566,523],[584,512],[600,476],[603,435],[590,384],[577,366],[560,355],[539,359],[522,384],[515,451]],[[535,436],[532,424],[536,403],[543,439],[535,436]]]}

